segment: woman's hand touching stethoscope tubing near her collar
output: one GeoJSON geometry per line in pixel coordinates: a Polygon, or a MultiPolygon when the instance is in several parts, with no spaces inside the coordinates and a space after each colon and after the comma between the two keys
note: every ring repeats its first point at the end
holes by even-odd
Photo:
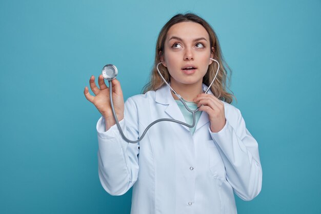
{"type": "Polygon", "coordinates": [[[211,131],[219,132],[226,124],[224,104],[213,94],[201,93],[193,100],[199,111],[205,111],[209,115],[211,131]]]}

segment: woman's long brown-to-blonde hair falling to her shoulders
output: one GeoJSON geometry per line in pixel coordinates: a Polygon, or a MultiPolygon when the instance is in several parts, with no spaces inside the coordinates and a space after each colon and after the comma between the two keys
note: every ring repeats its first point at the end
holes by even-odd
{"type": "MultiPolygon", "coordinates": [[[[202,25],[206,31],[209,34],[210,37],[210,44],[211,47],[214,48],[214,56],[213,59],[217,60],[220,67],[216,76],[216,79],[211,86],[211,91],[213,94],[216,96],[216,98],[225,101],[227,103],[232,103],[233,102],[233,92],[229,89],[229,82],[230,82],[230,77],[231,76],[231,69],[229,66],[226,64],[226,62],[223,59],[222,52],[219,47],[218,39],[217,36],[212,29],[212,27],[205,21],[203,18],[193,14],[193,13],[186,13],[186,14],[176,14],[174,15],[160,30],[158,38],[157,38],[157,43],[156,43],[156,50],[155,50],[155,61],[154,61],[154,66],[151,71],[151,76],[150,76],[150,81],[148,84],[145,85],[143,88],[143,92],[146,93],[147,91],[150,90],[157,90],[160,87],[162,87],[165,83],[159,76],[156,66],[158,63],[160,63],[160,57],[162,54],[164,54],[164,44],[167,36],[167,32],[172,27],[173,25],[181,22],[195,22],[200,25],[202,25]],[[228,76],[228,71],[230,75],[228,76]],[[229,90],[231,93],[227,92],[229,90]]],[[[170,80],[170,74],[165,66],[159,66],[158,67],[160,73],[162,73],[164,79],[168,82],[170,80]]],[[[210,85],[212,82],[215,73],[217,71],[217,63],[213,62],[209,65],[207,73],[203,77],[203,83],[207,86],[210,85]]]]}

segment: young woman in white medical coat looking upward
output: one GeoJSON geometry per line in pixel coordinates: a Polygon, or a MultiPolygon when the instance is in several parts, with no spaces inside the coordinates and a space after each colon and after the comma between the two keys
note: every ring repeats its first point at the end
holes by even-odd
{"type": "Polygon", "coordinates": [[[145,93],[125,105],[121,85],[112,81],[113,102],[125,135],[136,140],[157,119],[171,118],[191,124],[192,114],[162,81],[196,113],[196,125],[160,122],[145,138],[131,144],[119,134],[113,118],[109,89],[102,75],[99,88],[90,78],[95,96],[85,88],[102,118],[97,123],[98,173],[104,189],[121,195],[133,186],[131,213],[236,213],[235,192],[243,200],[257,196],[262,186],[258,145],[246,129],[240,111],[230,105],[227,69],[217,37],[195,14],[177,14],[160,31],[151,80],[145,93]],[[217,63],[217,77],[209,93],[217,63]]]}

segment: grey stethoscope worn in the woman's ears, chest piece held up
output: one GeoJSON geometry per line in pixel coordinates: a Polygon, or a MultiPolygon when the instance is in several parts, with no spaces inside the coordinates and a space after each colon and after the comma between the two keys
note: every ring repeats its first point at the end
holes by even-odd
{"type": "MultiPolygon", "coordinates": [[[[217,76],[217,73],[218,73],[218,70],[219,70],[219,63],[218,63],[216,60],[212,59],[212,58],[210,58],[210,59],[213,60],[214,62],[216,62],[217,65],[218,65],[218,67],[217,67],[217,71],[216,71],[216,74],[215,74],[215,76],[214,76],[214,79],[213,79],[213,81],[211,82],[211,84],[209,85],[209,87],[207,88],[207,90],[205,91],[205,93],[207,93],[207,92],[209,91],[209,89],[211,88],[212,84],[214,83],[214,81],[215,81],[215,79],[216,79],[216,76],[217,76]]],[[[152,125],[154,125],[154,124],[156,124],[156,123],[158,123],[158,122],[160,122],[160,121],[169,121],[169,122],[179,123],[179,124],[182,124],[182,125],[187,126],[187,127],[189,127],[189,128],[193,128],[193,127],[195,126],[195,113],[198,111],[198,108],[196,108],[195,110],[191,110],[191,109],[186,105],[186,103],[185,103],[186,101],[182,98],[182,96],[180,96],[178,93],[176,93],[176,91],[175,91],[174,89],[172,89],[172,87],[166,82],[166,80],[164,79],[163,75],[160,73],[160,71],[159,71],[159,69],[158,69],[158,66],[159,66],[160,64],[162,64],[162,63],[163,63],[163,62],[160,62],[160,63],[158,63],[157,66],[156,66],[156,69],[157,69],[157,71],[158,71],[158,74],[160,75],[160,77],[162,77],[162,80],[164,81],[164,83],[165,83],[165,84],[172,90],[172,92],[177,96],[177,98],[180,100],[180,102],[183,103],[183,105],[185,106],[185,108],[186,108],[189,112],[192,113],[192,115],[193,115],[193,123],[192,123],[192,125],[189,125],[189,124],[187,124],[187,123],[184,123],[184,122],[182,122],[182,121],[177,121],[177,120],[174,120],[174,119],[168,119],[168,118],[158,119],[158,120],[152,122],[151,124],[149,124],[149,125],[147,126],[147,128],[144,130],[144,132],[143,132],[143,134],[141,135],[141,137],[138,138],[138,139],[135,140],[135,141],[132,141],[132,140],[129,140],[128,138],[126,138],[126,136],[125,136],[125,134],[124,134],[124,132],[123,132],[123,130],[122,130],[121,125],[119,125],[119,122],[118,122],[118,119],[117,119],[117,115],[116,115],[116,112],[115,112],[115,108],[114,108],[113,97],[112,97],[112,83],[111,83],[111,81],[112,81],[113,79],[115,79],[116,75],[118,74],[118,70],[117,70],[116,66],[114,66],[114,65],[112,65],[112,64],[105,65],[104,68],[103,68],[103,70],[102,70],[102,74],[103,74],[103,76],[104,76],[104,79],[108,80],[108,84],[109,84],[109,96],[110,96],[110,106],[111,106],[111,110],[112,110],[113,115],[114,115],[114,119],[115,119],[116,125],[117,125],[117,127],[118,127],[119,132],[120,132],[121,135],[122,135],[122,138],[123,138],[125,141],[127,141],[128,143],[138,143],[139,141],[141,141],[141,140],[144,138],[147,130],[148,130],[152,125]]]]}

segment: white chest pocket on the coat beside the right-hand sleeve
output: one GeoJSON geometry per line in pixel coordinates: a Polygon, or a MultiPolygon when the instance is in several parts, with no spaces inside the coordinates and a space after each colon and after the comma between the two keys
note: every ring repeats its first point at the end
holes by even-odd
{"type": "Polygon", "coordinates": [[[226,181],[225,165],[214,142],[208,141],[208,153],[210,161],[210,171],[214,179],[226,181]]]}

